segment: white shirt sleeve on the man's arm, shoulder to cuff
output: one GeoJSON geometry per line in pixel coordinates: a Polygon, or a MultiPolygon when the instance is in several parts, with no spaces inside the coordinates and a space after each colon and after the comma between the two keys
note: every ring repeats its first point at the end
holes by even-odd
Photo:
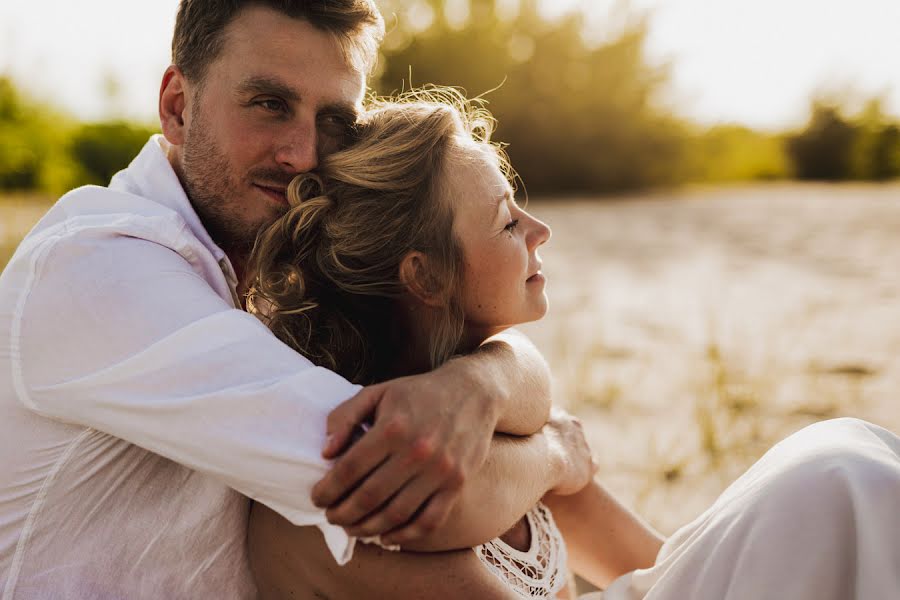
{"type": "Polygon", "coordinates": [[[282,344],[185,257],[109,232],[49,236],[24,270],[13,379],[33,411],[207,473],[296,525],[339,562],[354,540],[310,499],[328,413],[355,386],[282,344]]]}

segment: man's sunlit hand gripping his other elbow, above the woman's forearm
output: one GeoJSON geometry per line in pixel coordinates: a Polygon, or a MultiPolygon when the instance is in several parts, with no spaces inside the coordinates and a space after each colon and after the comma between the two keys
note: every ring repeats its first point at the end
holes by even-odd
{"type": "Polygon", "coordinates": [[[559,479],[550,493],[567,496],[579,492],[597,472],[581,421],[565,411],[554,409],[544,426],[544,434],[558,463],[559,479]]]}

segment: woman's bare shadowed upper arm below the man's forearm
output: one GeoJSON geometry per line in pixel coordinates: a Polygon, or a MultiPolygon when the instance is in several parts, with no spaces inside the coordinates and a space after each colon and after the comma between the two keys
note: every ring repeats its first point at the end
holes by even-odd
{"type": "Polygon", "coordinates": [[[256,503],[248,551],[261,600],[479,598],[514,600],[470,549],[419,554],[357,544],[339,567],[316,527],[297,527],[256,503]]]}

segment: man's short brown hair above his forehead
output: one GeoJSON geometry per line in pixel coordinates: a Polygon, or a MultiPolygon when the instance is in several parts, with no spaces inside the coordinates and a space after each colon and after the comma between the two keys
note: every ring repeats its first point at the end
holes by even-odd
{"type": "Polygon", "coordinates": [[[203,81],[222,50],[225,28],[250,6],[271,8],[335,35],[350,64],[364,73],[375,65],[384,21],[373,0],[181,0],[172,62],[185,77],[203,81]]]}

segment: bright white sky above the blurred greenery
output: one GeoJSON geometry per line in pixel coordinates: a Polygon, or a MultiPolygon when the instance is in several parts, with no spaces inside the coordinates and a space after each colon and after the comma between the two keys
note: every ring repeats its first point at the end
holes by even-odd
{"type": "MultiPolygon", "coordinates": [[[[509,2],[510,0],[505,0],[509,2]]],[[[581,8],[614,35],[623,0],[544,0],[581,8]]],[[[669,104],[701,123],[803,124],[818,92],[883,95],[900,116],[900,0],[631,0],[649,11],[647,51],[672,65],[669,104]]],[[[177,0],[0,3],[0,73],[85,119],[153,121],[177,0]],[[106,89],[118,82],[110,100],[106,89]]]]}

